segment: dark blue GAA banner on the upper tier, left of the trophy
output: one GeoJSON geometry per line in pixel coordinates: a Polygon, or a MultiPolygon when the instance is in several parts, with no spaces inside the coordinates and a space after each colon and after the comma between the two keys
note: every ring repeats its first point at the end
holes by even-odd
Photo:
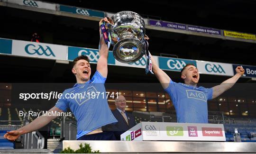
{"type": "Polygon", "coordinates": [[[101,12],[101,11],[95,11],[95,10],[83,9],[83,8],[76,8],[76,7],[69,7],[69,6],[64,6],[64,5],[60,5],[60,11],[73,13],[73,14],[80,14],[80,15],[83,15],[83,16],[92,16],[92,17],[99,17],[99,18],[104,18],[105,17],[104,12],[101,12]]]}

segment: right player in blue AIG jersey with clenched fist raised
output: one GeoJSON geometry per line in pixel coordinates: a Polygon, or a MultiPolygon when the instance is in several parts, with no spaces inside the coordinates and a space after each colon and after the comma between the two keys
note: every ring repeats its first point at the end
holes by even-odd
{"type": "Polygon", "coordinates": [[[151,56],[153,72],[165,91],[170,95],[176,110],[177,121],[183,123],[208,123],[207,100],[214,99],[229,90],[245,70],[238,66],[236,74],[212,88],[197,87],[200,74],[193,64],[187,64],[181,70],[184,83],[176,83],[161,70],[151,56]]]}

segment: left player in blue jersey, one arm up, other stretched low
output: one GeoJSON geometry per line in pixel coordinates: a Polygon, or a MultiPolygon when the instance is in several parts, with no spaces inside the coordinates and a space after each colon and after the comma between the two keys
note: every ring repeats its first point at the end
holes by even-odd
{"type": "MultiPolygon", "coordinates": [[[[101,19],[100,25],[103,20],[108,22],[107,18],[101,19]]],[[[77,120],[76,138],[78,140],[116,139],[113,132],[102,132],[101,129],[102,126],[118,122],[109,108],[104,87],[108,74],[108,51],[109,49],[103,37],[101,37],[99,50],[100,58],[97,63],[97,70],[91,79],[91,67],[88,57],[81,55],[75,58],[73,60],[72,72],[76,77],[76,84],[73,88],[65,90],[63,97],[56,102],[55,107],[48,111],[62,113],[70,108],[77,120]],[[71,93],[84,94],[84,92],[86,94],[85,97],[75,99],[64,97],[71,96],[71,93]],[[93,97],[90,97],[90,93],[92,95],[93,92],[100,92],[101,95],[93,99],[93,97]]],[[[6,133],[4,137],[10,141],[14,141],[22,134],[44,127],[55,118],[57,118],[57,116],[40,116],[28,125],[6,133]]]]}

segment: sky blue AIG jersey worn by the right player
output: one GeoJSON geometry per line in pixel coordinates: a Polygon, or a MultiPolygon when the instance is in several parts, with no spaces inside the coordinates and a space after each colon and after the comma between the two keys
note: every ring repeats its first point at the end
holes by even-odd
{"type": "Polygon", "coordinates": [[[165,91],[171,96],[178,122],[208,123],[207,100],[212,99],[212,88],[171,81],[165,91]]]}

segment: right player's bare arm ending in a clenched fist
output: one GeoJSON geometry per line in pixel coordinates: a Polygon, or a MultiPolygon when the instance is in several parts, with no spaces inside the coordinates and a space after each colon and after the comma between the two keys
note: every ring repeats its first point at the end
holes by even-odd
{"type": "Polygon", "coordinates": [[[245,70],[242,68],[242,66],[238,66],[236,68],[236,72],[237,72],[236,75],[222,82],[220,85],[212,88],[213,90],[212,99],[215,99],[216,97],[221,95],[223,92],[233,87],[233,85],[238,81],[238,79],[245,73],[245,70]]]}

